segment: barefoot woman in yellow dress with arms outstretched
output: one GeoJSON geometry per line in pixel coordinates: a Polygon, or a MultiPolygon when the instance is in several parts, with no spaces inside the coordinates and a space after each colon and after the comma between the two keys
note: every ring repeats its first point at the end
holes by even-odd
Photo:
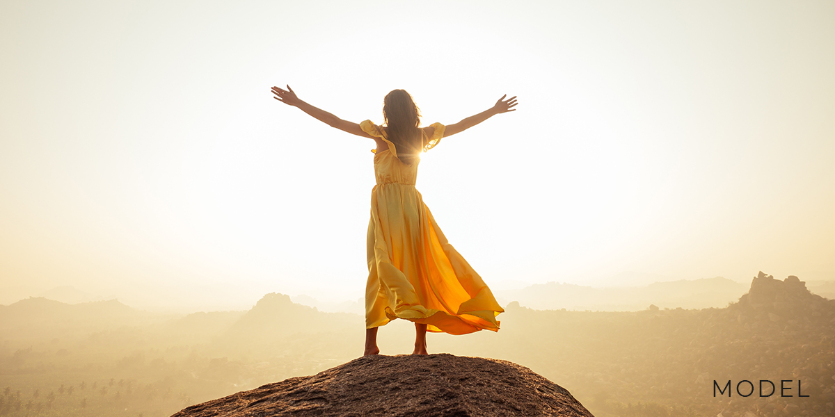
{"type": "Polygon", "coordinates": [[[423,204],[414,184],[419,154],[441,138],[472,128],[498,113],[513,112],[516,97],[505,94],[488,110],[444,126],[420,127],[420,109],[405,90],[383,99],[385,123],[351,123],[301,101],[290,86],[273,87],[276,100],[301,108],[312,117],[363,138],[377,148],[368,224],[368,282],[366,287],[366,344],[364,354],[379,354],[377,329],[392,319],[415,324],[412,354],[428,354],[426,332],[468,334],[481,329],[498,331],[496,316],[504,312],[493,293],[467,261],[443,236],[423,204]]]}

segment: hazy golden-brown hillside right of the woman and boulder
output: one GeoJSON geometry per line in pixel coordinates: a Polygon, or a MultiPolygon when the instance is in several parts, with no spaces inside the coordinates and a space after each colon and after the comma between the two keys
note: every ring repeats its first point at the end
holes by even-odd
{"type": "MultiPolygon", "coordinates": [[[[504,337],[478,334],[473,344],[492,343],[479,350],[560,381],[598,417],[835,412],[835,301],[809,293],[795,277],[761,273],[749,294],[725,309],[614,313],[511,304],[502,325],[504,337]],[[795,396],[713,397],[714,379],[792,379],[795,396]],[[797,379],[811,398],[797,398],[797,379]],[[627,402],[678,408],[625,414],[627,402]]],[[[470,346],[454,339],[438,347],[461,354],[470,346]]]]}

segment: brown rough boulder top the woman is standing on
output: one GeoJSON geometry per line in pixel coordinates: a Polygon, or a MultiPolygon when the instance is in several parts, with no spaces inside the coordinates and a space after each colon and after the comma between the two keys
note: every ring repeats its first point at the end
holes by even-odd
{"type": "Polygon", "coordinates": [[[452,354],[364,356],[192,405],[173,417],[267,415],[592,417],[566,389],[524,366],[452,354]]]}

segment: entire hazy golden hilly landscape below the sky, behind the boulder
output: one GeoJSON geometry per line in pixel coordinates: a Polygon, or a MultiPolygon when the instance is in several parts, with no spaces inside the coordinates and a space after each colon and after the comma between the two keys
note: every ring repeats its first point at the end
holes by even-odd
{"type": "MultiPolygon", "coordinates": [[[[429,334],[429,349],[528,366],[597,417],[832,415],[835,301],[793,277],[761,274],[749,294],[721,309],[542,311],[513,303],[498,318],[498,334],[429,334]],[[714,397],[714,379],[802,379],[812,397],[714,397]]],[[[323,313],[282,294],[248,311],[175,318],[114,302],[30,299],[0,308],[0,326],[0,389],[8,387],[0,415],[14,416],[170,415],[345,363],[362,353],[364,337],[361,315],[323,313]]],[[[412,338],[404,320],[384,326],[382,354],[410,352],[412,338]]]]}

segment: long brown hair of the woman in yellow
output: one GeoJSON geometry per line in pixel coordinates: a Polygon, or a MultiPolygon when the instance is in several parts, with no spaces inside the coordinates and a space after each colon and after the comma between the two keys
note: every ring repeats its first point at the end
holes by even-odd
{"type": "Polygon", "coordinates": [[[392,90],[382,99],[382,118],[388,140],[397,147],[397,158],[411,164],[421,152],[420,108],[406,90],[392,90]]]}

